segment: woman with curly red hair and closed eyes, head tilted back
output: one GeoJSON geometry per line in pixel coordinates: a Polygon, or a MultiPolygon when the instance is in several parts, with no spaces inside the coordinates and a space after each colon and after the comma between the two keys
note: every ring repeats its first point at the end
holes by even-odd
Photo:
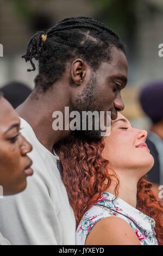
{"type": "Polygon", "coordinates": [[[154,163],[146,137],[118,113],[110,136],[73,133],[56,145],[77,245],[163,245],[163,206],[145,179],[154,163]]]}

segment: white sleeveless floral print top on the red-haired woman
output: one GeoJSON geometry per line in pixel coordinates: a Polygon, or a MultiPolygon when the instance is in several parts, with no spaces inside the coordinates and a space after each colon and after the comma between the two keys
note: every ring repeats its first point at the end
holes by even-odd
{"type": "Polygon", "coordinates": [[[128,222],[141,245],[158,245],[154,231],[155,221],[109,192],[104,192],[97,203],[82,217],[76,231],[76,244],[85,245],[86,237],[94,225],[109,216],[119,217],[128,222]]]}

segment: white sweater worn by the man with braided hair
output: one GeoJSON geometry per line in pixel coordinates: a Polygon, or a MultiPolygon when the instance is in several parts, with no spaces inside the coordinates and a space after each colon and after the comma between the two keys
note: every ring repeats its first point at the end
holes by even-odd
{"type": "Polygon", "coordinates": [[[0,199],[0,230],[11,245],[75,245],[76,222],[53,155],[21,119],[22,135],[33,145],[34,174],[25,191],[0,199]]]}

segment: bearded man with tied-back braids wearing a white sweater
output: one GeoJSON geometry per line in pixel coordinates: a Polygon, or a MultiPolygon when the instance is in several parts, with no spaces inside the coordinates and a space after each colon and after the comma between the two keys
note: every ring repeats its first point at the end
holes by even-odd
{"type": "MultiPolygon", "coordinates": [[[[3,200],[1,231],[17,245],[74,245],[76,223],[57,168],[55,143],[71,130],[52,129],[54,111],[110,111],[116,119],[124,108],[128,64],[119,36],[91,17],[72,17],[37,32],[22,56],[39,61],[35,88],[17,108],[22,133],[33,145],[33,179],[26,191],[3,200]]],[[[79,131],[91,139],[100,131],[79,131]]]]}

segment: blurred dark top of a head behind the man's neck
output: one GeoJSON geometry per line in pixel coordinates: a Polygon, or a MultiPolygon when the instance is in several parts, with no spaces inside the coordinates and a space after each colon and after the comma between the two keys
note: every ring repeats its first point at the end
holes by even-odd
{"type": "Polygon", "coordinates": [[[1,88],[1,92],[12,107],[17,108],[27,99],[32,90],[22,82],[12,81],[5,84],[1,88]]]}

